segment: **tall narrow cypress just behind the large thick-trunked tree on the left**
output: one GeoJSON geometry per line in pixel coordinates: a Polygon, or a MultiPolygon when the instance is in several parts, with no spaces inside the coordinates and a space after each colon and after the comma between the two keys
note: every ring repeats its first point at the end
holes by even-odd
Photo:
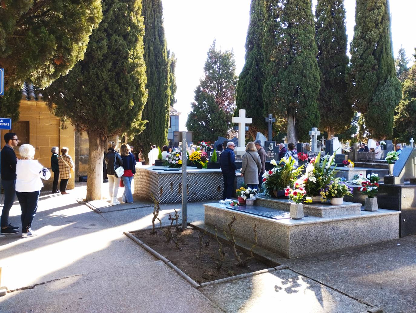
{"type": "Polygon", "coordinates": [[[143,110],[143,118],[149,121],[146,129],[134,138],[136,145],[147,152],[151,145],[162,146],[168,141],[169,105],[171,103],[171,81],[163,28],[161,0],[142,0],[144,17],[144,60],[149,97],[143,110]]]}

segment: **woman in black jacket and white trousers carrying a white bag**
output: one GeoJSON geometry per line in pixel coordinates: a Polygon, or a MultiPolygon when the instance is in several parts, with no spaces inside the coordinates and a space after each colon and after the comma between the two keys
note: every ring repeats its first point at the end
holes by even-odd
{"type": "Polygon", "coordinates": [[[115,170],[123,165],[123,160],[121,160],[121,156],[116,151],[116,143],[114,141],[110,141],[108,144],[105,163],[107,167],[110,204],[119,205],[120,202],[117,201],[117,193],[119,192],[120,177],[117,177],[115,170]]]}

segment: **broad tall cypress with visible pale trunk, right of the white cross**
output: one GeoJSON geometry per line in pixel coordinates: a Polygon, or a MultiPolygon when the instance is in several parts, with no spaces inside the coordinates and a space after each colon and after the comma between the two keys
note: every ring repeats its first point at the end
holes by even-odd
{"type": "Polygon", "coordinates": [[[267,64],[265,110],[287,120],[287,138],[308,140],[319,126],[318,53],[310,0],[267,0],[263,49],[267,64]]]}

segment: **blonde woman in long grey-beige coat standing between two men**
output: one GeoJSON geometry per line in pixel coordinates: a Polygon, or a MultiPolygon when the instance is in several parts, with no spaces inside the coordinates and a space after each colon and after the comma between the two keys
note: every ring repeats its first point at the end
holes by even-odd
{"type": "Polygon", "coordinates": [[[257,149],[253,141],[250,141],[245,147],[245,154],[243,155],[243,165],[241,166],[241,176],[244,177],[244,182],[251,189],[258,190],[260,171],[260,156],[257,153],[257,149]]]}

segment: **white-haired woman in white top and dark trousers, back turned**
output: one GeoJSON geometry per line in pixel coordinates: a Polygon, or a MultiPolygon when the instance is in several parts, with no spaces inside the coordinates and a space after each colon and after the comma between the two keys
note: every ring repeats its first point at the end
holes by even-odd
{"type": "Polygon", "coordinates": [[[33,160],[35,148],[32,145],[21,145],[19,153],[22,158],[16,165],[16,195],[22,210],[22,237],[27,238],[36,236],[31,227],[43,187],[41,178],[48,180],[51,173],[37,160],[33,160]]]}

